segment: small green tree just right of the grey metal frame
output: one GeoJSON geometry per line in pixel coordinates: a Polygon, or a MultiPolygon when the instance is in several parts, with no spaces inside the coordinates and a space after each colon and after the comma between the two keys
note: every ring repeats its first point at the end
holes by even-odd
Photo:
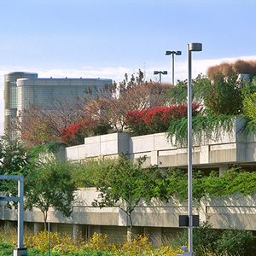
{"type": "Polygon", "coordinates": [[[26,183],[25,208],[32,211],[37,207],[44,215],[44,229],[49,207],[54,207],[65,217],[73,212],[72,203],[76,186],[70,171],[73,166],[61,160],[45,160],[28,173],[26,183]]]}

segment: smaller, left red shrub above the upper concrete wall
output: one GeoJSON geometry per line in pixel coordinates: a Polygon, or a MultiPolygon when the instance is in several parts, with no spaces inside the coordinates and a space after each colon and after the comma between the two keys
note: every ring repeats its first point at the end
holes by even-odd
{"type": "Polygon", "coordinates": [[[84,137],[107,134],[111,128],[107,122],[98,119],[86,119],[84,122],[70,125],[61,131],[61,141],[68,146],[84,143],[84,137]]]}

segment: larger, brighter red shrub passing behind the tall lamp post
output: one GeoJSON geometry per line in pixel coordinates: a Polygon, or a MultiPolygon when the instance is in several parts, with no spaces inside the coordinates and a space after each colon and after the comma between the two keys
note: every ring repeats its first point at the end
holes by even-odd
{"type": "MultiPolygon", "coordinates": [[[[192,115],[200,113],[200,105],[192,104],[192,115]]],[[[134,135],[146,135],[166,132],[173,119],[182,119],[188,114],[188,106],[148,108],[129,111],[125,114],[125,123],[134,135]]]]}

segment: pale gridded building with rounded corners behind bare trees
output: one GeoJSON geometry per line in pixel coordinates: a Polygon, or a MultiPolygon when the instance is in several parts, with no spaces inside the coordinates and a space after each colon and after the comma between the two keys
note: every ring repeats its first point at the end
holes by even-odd
{"type": "Polygon", "coordinates": [[[40,105],[48,110],[55,99],[69,101],[83,98],[90,91],[104,90],[112,79],[38,79],[38,73],[15,72],[4,75],[4,129],[24,108],[30,104],[40,105]]]}

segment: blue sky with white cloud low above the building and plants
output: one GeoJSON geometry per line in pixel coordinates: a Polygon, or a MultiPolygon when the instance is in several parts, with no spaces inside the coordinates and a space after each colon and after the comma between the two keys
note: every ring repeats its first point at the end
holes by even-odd
{"type": "MultiPolygon", "coordinates": [[[[147,79],[167,70],[187,78],[187,44],[193,77],[223,61],[256,60],[256,1],[247,0],[0,0],[0,108],[3,74],[39,78],[102,78],[119,82],[141,68],[147,79]]],[[[3,134],[3,111],[0,111],[3,134]]]]}

